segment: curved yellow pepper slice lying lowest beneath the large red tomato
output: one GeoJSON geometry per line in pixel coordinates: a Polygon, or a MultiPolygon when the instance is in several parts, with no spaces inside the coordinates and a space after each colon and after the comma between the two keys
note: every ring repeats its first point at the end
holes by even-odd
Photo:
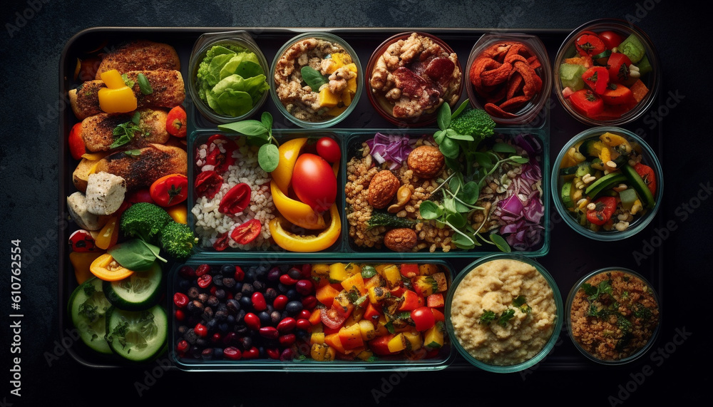
{"type": "Polygon", "coordinates": [[[337,242],[342,233],[342,220],[336,204],[329,208],[329,215],[332,215],[332,222],[319,235],[295,235],[287,232],[282,228],[279,217],[270,220],[270,234],[279,247],[289,252],[319,252],[337,242]]]}

